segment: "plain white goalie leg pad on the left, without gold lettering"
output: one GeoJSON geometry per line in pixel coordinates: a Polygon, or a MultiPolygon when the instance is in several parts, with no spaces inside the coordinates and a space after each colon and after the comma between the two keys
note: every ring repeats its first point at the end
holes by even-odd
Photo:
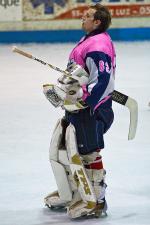
{"type": "Polygon", "coordinates": [[[56,179],[58,193],[52,193],[45,197],[45,204],[49,207],[64,205],[72,200],[72,190],[66,170],[69,162],[67,152],[62,144],[65,130],[62,124],[62,120],[59,120],[56,124],[50,144],[49,159],[56,179]]]}

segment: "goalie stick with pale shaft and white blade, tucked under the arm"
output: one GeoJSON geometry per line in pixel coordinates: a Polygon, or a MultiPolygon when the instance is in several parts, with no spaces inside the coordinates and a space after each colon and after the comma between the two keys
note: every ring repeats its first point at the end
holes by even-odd
{"type": "MultiPolygon", "coordinates": [[[[67,77],[70,77],[71,79],[74,79],[70,76],[70,73],[68,71],[62,70],[59,67],[53,66],[52,64],[47,63],[47,62],[33,56],[30,53],[22,51],[21,49],[17,48],[16,46],[12,47],[12,51],[16,52],[20,55],[23,55],[27,58],[33,59],[33,60],[35,60],[35,61],[37,61],[37,62],[39,62],[39,63],[41,63],[45,66],[49,66],[51,69],[56,70],[56,71],[62,73],[63,75],[65,75],[67,77]]],[[[129,124],[128,140],[132,140],[135,137],[136,130],[137,130],[138,104],[137,104],[135,99],[133,99],[133,98],[121,93],[121,92],[118,92],[116,90],[114,90],[113,93],[112,93],[112,100],[119,103],[119,104],[122,104],[122,105],[126,106],[129,109],[129,111],[130,111],[130,124],[129,124]]]]}

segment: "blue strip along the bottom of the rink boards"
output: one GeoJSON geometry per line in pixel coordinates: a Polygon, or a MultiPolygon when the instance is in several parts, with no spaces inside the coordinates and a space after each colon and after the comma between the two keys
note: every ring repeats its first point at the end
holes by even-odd
{"type": "MultiPolygon", "coordinates": [[[[115,41],[150,40],[150,28],[114,28],[109,34],[115,41]]],[[[5,31],[0,32],[0,43],[77,42],[83,35],[82,30],[5,31]]]]}

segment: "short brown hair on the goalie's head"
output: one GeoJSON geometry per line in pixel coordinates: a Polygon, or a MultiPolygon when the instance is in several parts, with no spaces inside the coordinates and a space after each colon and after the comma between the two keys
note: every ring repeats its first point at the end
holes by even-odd
{"type": "Polygon", "coordinates": [[[96,5],[90,6],[90,8],[95,9],[94,20],[100,20],[101,24],[97,29],[101,32],[105,32],[111,24],[111,14],[106,6],[103,6],[99,3],[96,5]]]}

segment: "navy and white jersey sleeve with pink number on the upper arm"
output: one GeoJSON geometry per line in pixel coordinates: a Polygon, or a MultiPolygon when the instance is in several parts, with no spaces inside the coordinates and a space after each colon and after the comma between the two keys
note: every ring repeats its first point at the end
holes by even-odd
{"type": "Polygon", "coordinates": [[[85,58],[89,72],[89,83],[83,86],[83,100],[95,111],[107,101],[114,90],[111,57],[104,52],[89,52],[85,58]]]}

